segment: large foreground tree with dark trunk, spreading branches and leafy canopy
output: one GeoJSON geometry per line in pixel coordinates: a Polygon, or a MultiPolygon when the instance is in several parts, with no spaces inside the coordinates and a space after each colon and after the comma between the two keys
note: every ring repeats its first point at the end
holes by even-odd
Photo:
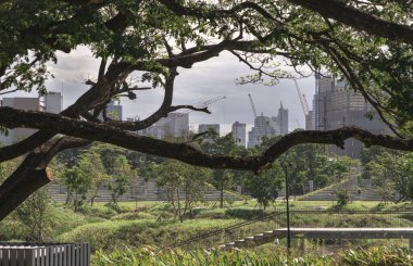
{"type": "MultiPolygon", "coordinates": [[[[411,17],[410,1],[1,1],[1,93],[46,93],[45,83],[53,78],[48,65],[60,60],[58,52],[85,47],[101,63],[97,78],[85,80],[88,90],[60,114],[0,109],[2,131],[39,129],[0,149],[1,162],[25,155],[0,186],[0,219],[50,182],[48,165],[58,153],[92,141],[197,166],[255,174],[272,167],[276,159],[300,143],[342,147],[346,139],[355,138],[367,147],[412,151],[411,17]],[[374,106],[375,112],[368,115],[379,116],[393,136],[354,127],[296,131],[259,154],[234,156],[212,155],[189,143],[130,132],[173,111],[209,113],[208,109],[173,105],[174,84],[182,68],[225,51],[252,71],[239,78],[240,84],[276,84],[280,78],[311,75],[303,66],[346,79],[374,106]],[[295,71],[286,72],[285,66],[295,71]],[[137,83],[128,83],[132,75],[139,77],[137,83]],[[136,99],[141,90],[159,87],[164,89],[162,104],[145,119],[113,121],[104,112],[112,99],[136,99]]],[[[68,174],[82,179],[78,168],[68,174]]],[[[114,177],[122,179],[122,174],[114,177]]],[[[123,182],[120,180],[118,191],[123,182]]],[[[76,201],[80,202],[83,191],[77,192],[76,201]]]]}

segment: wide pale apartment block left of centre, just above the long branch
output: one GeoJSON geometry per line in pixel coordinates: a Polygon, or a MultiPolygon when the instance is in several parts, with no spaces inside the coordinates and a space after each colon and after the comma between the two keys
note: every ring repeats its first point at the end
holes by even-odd
{"type": "Polygon", "coordinates": [[[158,139],[165,137],[183,137],[189,134],[189,114],[170,113],[152,126],[139,131],[140,135],[158,139]]]}

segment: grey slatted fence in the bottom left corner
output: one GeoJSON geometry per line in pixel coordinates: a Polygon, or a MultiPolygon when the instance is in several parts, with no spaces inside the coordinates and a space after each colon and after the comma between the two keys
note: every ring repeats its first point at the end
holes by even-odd
{"type": "Polygon", "coordinates": [[[0,266],[89,266],[89,243],[0,242],[0,266]]]}

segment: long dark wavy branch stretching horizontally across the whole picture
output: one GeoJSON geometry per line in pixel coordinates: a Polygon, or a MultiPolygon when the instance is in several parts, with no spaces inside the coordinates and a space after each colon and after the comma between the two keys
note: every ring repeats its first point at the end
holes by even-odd
{"type": "Polygon", "coordinates": [[[46,128],[73,137],[116,144],[152,155],[176,159],[192,165],[213,168],[234,168],[260,173],[291,147],[300,143],[323,143],[343,147],[345,140],[354,138],[366,147],[381,145],[402,151],[413,151],[413,139],[400,139],[374,135],[356,127],[343,127],[328,131],[295,131],[284,136],[260,156],[233,157],[206,154],[185,143],[138,136],[118,128],[63,117],[58,114],[0,107],[0,123],[7,127],[46,128]]]}

